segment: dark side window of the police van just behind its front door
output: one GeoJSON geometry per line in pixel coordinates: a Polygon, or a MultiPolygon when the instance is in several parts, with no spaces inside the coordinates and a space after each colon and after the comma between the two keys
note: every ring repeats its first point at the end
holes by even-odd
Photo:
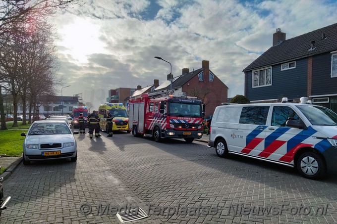
{"type": "Polygon", "coordinates": [[[243,107],[240,116],[240,124],[266,125],[269,106],[243,107]]]}

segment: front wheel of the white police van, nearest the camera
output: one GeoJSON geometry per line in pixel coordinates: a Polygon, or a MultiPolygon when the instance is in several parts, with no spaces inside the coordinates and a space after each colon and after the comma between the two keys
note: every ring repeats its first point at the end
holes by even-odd
{"type": "Polygon", "coordinates": [[[317,179],[327,174],[327,166],[322,157],[315,152],[305,152],[297,160],[297,170],[308,179],[317,179]]]}

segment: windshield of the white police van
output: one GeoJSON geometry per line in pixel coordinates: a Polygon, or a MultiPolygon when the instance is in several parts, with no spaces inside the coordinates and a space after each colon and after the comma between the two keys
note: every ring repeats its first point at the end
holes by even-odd
{"type": "Polygon", "coordinates": [[[321,106],[296,105],[312,125],[337,126],[337,114],[321,106]]]}

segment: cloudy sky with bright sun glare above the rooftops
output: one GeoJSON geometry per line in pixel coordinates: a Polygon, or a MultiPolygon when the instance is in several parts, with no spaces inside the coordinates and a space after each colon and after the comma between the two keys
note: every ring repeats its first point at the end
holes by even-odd
{"type": "MultiPolygon", "coordinates": [[[[82,93],[93,109],[108,90],[137,88],[182,68],[210,69],[244,94],[242,70],[269,49],[277,28],[290,39],[337,23],[336,0],[84,0],[59,13],[64,96],[82,93]]],[[[60,94],[59,90],[59,94],[60,94]]]]}

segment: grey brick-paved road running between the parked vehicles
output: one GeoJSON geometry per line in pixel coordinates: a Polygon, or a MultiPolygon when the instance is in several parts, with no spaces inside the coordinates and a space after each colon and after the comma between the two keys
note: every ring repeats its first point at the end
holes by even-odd
{"type": "Polygon", "coordinates": [[[270,163],[237,156],[219,158],[203,142],[157,143],[126,133],[112,138],[103,135],[98,139],[75,135],[77,163],[20,164],[3,183],[5,195],[12,200],[0,222],[120,223],[115,215],[96,215],[99,203],[128,204],[145,211],[152,203],[154,209],[170,206],[172,213],[179,206],[172,216],[168,209],[151,210],[149,218],[134,223],[337,222],[336,174],[309,180],[270,163]],[[80,213],[84,203],[92,206],[91,214],[80,213]],[[203,214],[188,215],[198,206],[204,206],[203,214]],[[314,215],[320,206],[320,215],[314,215]],[[211,207],[213,214],[208,210],[211,207]],[[295,214],[296,209],[301,214],[295,214]],[[310,214],[305,215],[308,209],[310,214]]]}

